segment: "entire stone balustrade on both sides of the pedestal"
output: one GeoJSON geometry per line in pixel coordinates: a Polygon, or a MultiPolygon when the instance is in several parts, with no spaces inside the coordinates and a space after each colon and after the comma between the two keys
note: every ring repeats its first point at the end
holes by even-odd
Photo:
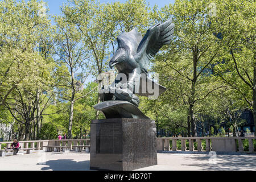
{"type": "MultiPolygon", "coordinates": [[[[157,138],[156,148],[158,151],[178,151],[177,141],[180,140],[181,151],[218,151],[218,152],[245,152],[243,140],[247,139],[249,143],[249,151],[254,151],[254,143],[256,137],[163,137],[157,138]],[[170,147],[171,140],[171,147],[170,147]],[[205,147],[203,147],[203,140],[205,140],[205,147]],[[187,146],[188,142],[188,146],[187,146]],[[195,142],[197,143],[197,150],[195,150],[195,142]]],[[[63,139],[63,140],[30,140],[19,141],[22,148],[35,148],[34,150],[44,150],[43,146],[47,146],[51,142],[53,145],[60,146],[82,146],[90,145],[90,139],[63,139]]],[[[0,142],[0,150],[2,144],[6,144],[9,148],[13,142],[0,142]]],[[[256,152],[255,152],[256,153],[256,152]]]]}

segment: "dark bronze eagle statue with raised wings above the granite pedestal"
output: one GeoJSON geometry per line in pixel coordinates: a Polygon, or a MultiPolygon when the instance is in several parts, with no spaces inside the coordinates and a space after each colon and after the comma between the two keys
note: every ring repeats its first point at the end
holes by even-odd
{"type": "MultiPolygon", "coordinates": [[[[154,81],[148,78],[148,65],[152,57],[158,53],[159,49],[166,44],[170,44],[172,36],[174,34],[174,23],[172,19],[168,19],[164,23],[157,23],[155,26],[149,28],[142,38],[141,32],[138,32],[137,28],[134,28],[130,32],[122,32],[117,37],[118,49],[114,53],[112,59],[110,60],[110,68],[116,67],[118,74],[123,74],[127,76],[127,80],[115,80],[112,85],[109,86],[101,94],[101,101],[128,101],[131,104],[138,106],[139,96],[149,96],[150,93],[142,93],[141,80],[139,81],[139,92],[135,92],[135,78],[138,75],[145,74],[146,80],[154,81]],[[120,92],[112,92],[111,89],[120,92]]],[[[161,85],[159,86],[159,94],[163,93],[166,88],[161,85]]]]}

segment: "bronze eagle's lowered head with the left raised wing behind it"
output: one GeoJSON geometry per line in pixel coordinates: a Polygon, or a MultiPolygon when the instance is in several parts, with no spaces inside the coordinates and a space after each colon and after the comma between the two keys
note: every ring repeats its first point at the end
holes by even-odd
{"type": "Polygon", "coordinates": [[[113,68],[119,63],[129,64],[131,55],[134,55],[137,51],[139,43],[142,40],[141,32],[138,32],[137,28],[134,28],[130,32],[122,32],[117,37],[118,49],[109,62],[109,67],[113,68]]]}

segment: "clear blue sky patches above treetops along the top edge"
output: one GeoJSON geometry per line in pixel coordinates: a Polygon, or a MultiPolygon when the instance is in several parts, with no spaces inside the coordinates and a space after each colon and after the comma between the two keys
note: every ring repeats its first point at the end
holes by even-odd
{"type": "MultiPolygon", "coordinates": [[[[44,0],[47,2],[48,7],[50,9],[51,14],[60,14],[60,6],[63,3],[67,2],[67,0],[44,0]]],[[[100,0],[101,3],[108,3],[108,2],[125,2],[126,0],[100,0]]],[[[164,5],[168,5],[170,3],[174,3],[175,0],[146,0],[147,3],[150,3],[150,6],[154,6],[155,4],[159,7],[163,7],[164,5]]]]}

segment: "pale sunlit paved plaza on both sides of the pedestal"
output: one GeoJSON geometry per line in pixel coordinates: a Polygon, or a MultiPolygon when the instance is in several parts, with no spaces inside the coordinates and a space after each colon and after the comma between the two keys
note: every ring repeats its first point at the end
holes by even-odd
{"type": "MultiPolygon", "coordinates": [[[[0,157],[0,171],[87,171],[90,169],[89,153],[49,153],[0,157]]],[[[158,154],[158,165],[141,168],[143,171],[189,171],[189,170],[256,170],[255,155],[205,154],[158,154]]]]}

